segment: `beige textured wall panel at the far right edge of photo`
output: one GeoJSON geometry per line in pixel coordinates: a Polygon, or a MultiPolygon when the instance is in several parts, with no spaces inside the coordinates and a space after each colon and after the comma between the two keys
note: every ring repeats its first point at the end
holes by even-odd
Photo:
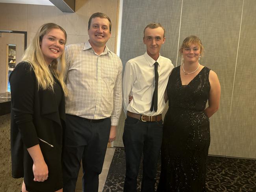
{"type": "Polygon", "coordinates": [[[256,5],[244,1],[227,156],[256,159],[256,5]]]}

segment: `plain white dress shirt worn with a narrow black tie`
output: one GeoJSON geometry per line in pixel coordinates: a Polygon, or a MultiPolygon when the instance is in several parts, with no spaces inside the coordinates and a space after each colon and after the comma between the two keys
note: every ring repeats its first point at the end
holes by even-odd
{"type": "Polygon", "coordinates": [[[127,61],[123,77],[123,107],[124,112],[155,116],[161,114],[165,108],[164,93],[168,78],[174,66],[170,59],[159,55],[158,62],[158,110],[150,111],[155,89],[156,61],[147,52],[144,55],[127,61]],[[129,96],[133,100],[129,103],[129,96]]]}

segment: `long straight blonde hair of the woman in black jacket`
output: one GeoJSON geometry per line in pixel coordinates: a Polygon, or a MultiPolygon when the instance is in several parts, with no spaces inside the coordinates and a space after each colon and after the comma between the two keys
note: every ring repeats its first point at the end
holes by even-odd
{"type": "Polygon", "coordinates": [[[54,59],[51,65],[48,66],[49,63],[46,63],[40,47],[43,36],[53,28],[63,31],[63,33],[65,34],[66,44],[67,33],[61,26],[55,23],[43,24],[37,31],[30,46],[28,46],[28,48],[26,49],[22,57],[22,61],[30,63],[31,67],[33,68],[35,72],[35,77],[37,79],[38,89],[42,88],[43,90],[53,90],[55,77],[61,84],[64,94],[67,95],[67,87],[63,81],[66,70],[65,51],[63,51],[63,54],[58,59],[54,59]],[[54,77],[52,76],[52,74],[54,77]]]}

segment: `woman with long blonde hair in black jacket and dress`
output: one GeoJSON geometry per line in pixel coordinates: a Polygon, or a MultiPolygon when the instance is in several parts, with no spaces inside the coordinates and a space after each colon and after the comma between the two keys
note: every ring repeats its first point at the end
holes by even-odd
{"type": "Polygon", "coordinates": [[[22,192],[62,192],[65,30],[43,24],[10,75],[12,176],[22,192]]]}

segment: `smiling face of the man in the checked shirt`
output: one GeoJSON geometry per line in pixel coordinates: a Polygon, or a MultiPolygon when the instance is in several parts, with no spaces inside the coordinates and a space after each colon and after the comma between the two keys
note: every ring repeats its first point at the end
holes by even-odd
{"type": "Polygon", "coordinates": [[[100,17],[92,18],[88,35],[89,42],[93,48],[104,47],[111,36],[108,19],[100,17]]]}

